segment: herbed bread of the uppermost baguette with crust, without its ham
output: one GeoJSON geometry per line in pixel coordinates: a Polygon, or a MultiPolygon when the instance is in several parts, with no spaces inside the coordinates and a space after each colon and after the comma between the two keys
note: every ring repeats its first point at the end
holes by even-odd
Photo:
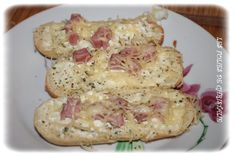
{"type": "MultiPolygon", "coordinates": [[[[158,24],[153,13],[146,13],[134,19],[117,19],[108,21],[72,22],[73,33],[79,37],[76,44],[70,44],[66,32],[68,21],[50,22],[39,26],[34,31],[34,44],[36,49],[48,58],[68,56],[73,51],[88,48],[94,50],[91,37],[99,28],[111,30],[112,37],[109,47],[124,45],[141,45],[147,43],[162,44],[164,40],[163,28],[158,24]]],[[[109,47],[107,49],[109,49],[109,47]]]]}

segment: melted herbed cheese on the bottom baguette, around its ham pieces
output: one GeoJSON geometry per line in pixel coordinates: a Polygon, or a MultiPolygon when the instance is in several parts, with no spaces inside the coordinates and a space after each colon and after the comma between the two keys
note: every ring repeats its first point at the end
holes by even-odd
{"type": "MultiPolygon", "coordinates": [[[[98,97],[101,95],[107,95],[110,91],[103,92],[90,92],[81,95],[84,97],[84,105],[82,103],[82,109],[79,113],[80,118],[73,120],[66,118],[65,120],[60,120],[60,112],[62,110],[63,103],[65,98],[52,99],[44,105],[40,106],[37,109],[38,119],[40,127],[44,127],[47,130],[50,130],[55,135],[58,135],[61,139],[64,138],[75,138],[84,137],[84,138],[95,138],[96,136],[107,136],[109,138],[115,138],[116,136],[122,137],[130,136],[131,139],[139,139],[143,135],[147,136],[148,139],[154,138],[157,134],[173,134],[179,133],[184,126],[185,121],[188,123],[192,121],[183,119],[184,115],[187,112],[195,112],[197,110],[193,108],[193,104],[190,105],[194,97],[187,97],[182,93],[175,90],[165,90],[165,89],[127,89],[120,91],[112,91],[113,95],[119,95],[121,98],[125,98],[129,103],[137,101],[135,96],[137,93],[141,93],[144,97],[147,97],[146,102],[148,103],[152,97],[158,95],[161,99],[167,99],[168,104],[166,106],[166,111],[160,111],[160,116],[153,114],[154,112],[148,108],[147,105],[141,105],[139,102],[136,105],[133,105],[133,109],[127,110],[125,116],[125,123],[120,128],[114,128],[109,122],[104,122],[102,120],[95,120],[90,118],[91,115],[97,113],[102,113],[104,111],[104,105],[106,106],[107,96],[103,96],[103,102],[99,105],[89,104],[91,102],[95,103],[98,100],[98,97]],[[89,97],[89,95],[95,95],[94,97],[89,97]],[[175,97],[173,97],[175,95],[175,97]],[[96,98],[97,97],[97,98],[96,98]],[[179,105],[182,104],[182,105],[179,105]],[[135,118],[132,115],[132,112],[145,112],[150,118],[142,123],[137,123],[135,118]]],[[[110,104],[111,105],[111,104],[110,104]]],[[[114,107],[114,104],[110,107],[114,107]]],[[[109,114],[109,111],[106,112],[109,114]]],[[[192,115],[191,118],[194,118],[192,115]]],[[[189,124],[188,124],[189,125],[189,124]]],[[[182,130],[183,131],[183,130],[182,130]]]]}

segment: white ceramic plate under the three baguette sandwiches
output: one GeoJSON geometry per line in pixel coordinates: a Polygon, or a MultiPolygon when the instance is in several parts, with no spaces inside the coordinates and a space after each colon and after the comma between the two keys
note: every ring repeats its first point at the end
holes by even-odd
{"type": "MultiPolygon", "coordinates": [[[[7,45],[7,143],[17,150],[82,150],[80,147],[59,147],[42,139],[33,126],[34,109],[49,99],[44,90],[45,59],[34,50],[32,32],[49,21],[68,19],[71,13],[79,12],[88,20],[104,20],[109,17],[136,17],[151,6],[60,6],[34,15],[8,31],[7,45]]],[[[184,65],[194,64],[185,78],[188,83],[199,83],[200,92],[216,87],[216,40],[197,24],[169,11],[162,21],[165,30],[164,45],[172,46],[177,40],[177,49],[183,54],[184,65]]],[[[226,52],[223,57],[227,57],[226,52]]],[[[226,79],[224,79],[226,80],[226,79]]],[[[220,149],[227,141],[226,118],[223,123],[212,122],[204,116],[209,126],[205,140],[194,150],[220,149]]],[[[188,150],[202,133],[199,123],[183,135],[144,144],[145,151],[188,150]]],[[[115,151],[116,144],[99,145],[97,151],[115,151]]]]}

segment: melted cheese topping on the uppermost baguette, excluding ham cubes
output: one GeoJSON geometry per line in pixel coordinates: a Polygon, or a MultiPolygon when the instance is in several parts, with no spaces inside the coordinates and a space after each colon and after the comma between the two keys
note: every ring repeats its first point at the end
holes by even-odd
{"type": "MultiPolygon", "coordinates": [[[[147,14],[136,19],[116,21],[81,21],[73,23],[73,30],[79,35],[80,42],[72,46],[64,27],[65,22],[49,23],[40,27],[42,47],[45,50],[54,50],[59,55],[69,54],[74,50],[87,47],[93,51],[91,37],[99,27],[108,27],[112,30],[112,39],[109,45],[113,48],[131,44],[147,44],[152,40],[160,40],[162,32],[159,28],[151,28],[147,20],[153,15],[147,14]]],[[[159,26],[158,26],[159,27],[159,26]]]]}

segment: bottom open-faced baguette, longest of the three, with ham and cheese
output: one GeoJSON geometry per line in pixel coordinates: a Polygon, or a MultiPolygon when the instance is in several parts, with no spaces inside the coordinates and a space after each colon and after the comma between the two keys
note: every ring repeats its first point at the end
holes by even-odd
{"type": "Polygon", "coordinates": [[[36,109],[34,125],[57,145],[148,142],[184,133],[199,113],[197,98],[178,90],[125,88],[48,100],[36,109]],[[65,111],[71,117],[62,118],[65,111]]]}

